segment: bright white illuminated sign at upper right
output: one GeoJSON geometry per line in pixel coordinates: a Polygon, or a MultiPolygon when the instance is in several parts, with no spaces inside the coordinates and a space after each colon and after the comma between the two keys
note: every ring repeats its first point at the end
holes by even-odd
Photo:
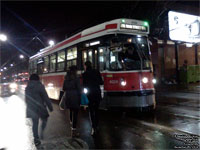
{"type": "Polygon", "coordinates": [[[169,37],[188,43],[200,42],[200,17],[169,11],[169,37]]]}

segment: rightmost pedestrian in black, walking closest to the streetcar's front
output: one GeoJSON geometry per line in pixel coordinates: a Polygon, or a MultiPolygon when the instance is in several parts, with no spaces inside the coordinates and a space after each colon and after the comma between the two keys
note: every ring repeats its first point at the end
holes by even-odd
{"type": "Polygon", "coordinates": [[[88,91],[88,107],[90,112],[90,118],[92,121],[91,135],[94,135],[96,134],[99,122],[98,108],[102,99],[100,85],[103,85],[103,80],[101,78],[100,72],[95,69],[92,69],[92,63],[90,61],[85,62],[84,69],[85,72],[82,74],[83,87],[88,91]]]}

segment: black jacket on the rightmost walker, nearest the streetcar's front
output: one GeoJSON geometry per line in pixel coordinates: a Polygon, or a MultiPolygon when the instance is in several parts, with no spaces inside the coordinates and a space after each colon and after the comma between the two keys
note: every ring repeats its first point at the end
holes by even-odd
{"type": "Polygon", "coordinates": [[[88,89],[87,96],[89,101],[99,102],[101,97],[100,85],[103,85],[103,80],[99,71],[95,69],[87,69],[83,74],[83,87],[88,89]]]}

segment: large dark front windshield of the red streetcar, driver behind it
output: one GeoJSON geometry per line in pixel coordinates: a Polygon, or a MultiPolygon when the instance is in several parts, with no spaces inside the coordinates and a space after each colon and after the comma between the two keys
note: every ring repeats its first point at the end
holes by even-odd
{"type": "Polygon", "coordinates": [[[110,70],[149,70],[150,54],[146,37],[133,37],[110,51],[110,70]]]}

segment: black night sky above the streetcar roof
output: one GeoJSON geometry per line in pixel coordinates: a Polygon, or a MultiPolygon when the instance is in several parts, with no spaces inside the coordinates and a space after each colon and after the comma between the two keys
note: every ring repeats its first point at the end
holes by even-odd
{"type": "MultiPolygon", "coordinates": [[[[1,44],[1,65],[15,63],[23,50],[35,54],[48,45],[50,39],[60,42],[85,28],[117,18],[147,20],[151,35],[156,36],[157,28],[163,28],[167,12],[199,15],[199,1],[1,1],[0,32],[8,36],[1,44]],[[191,6],[194,9],[187,9],[191,6]],[[159,17],[158,17],[159,16],[159,17]]],[[[164,24],[165,23],[165,24],[164,24]]]]}

